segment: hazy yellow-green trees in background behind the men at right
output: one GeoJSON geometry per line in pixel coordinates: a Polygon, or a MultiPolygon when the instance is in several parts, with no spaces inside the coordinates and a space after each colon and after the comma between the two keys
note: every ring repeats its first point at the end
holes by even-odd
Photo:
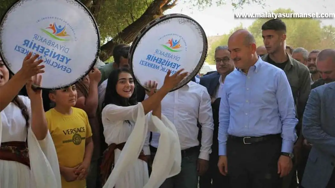
{"type": "MultiPolygon", "coordinates": [[[[291,9],[276,9],[274,13],[294,13],[291,9]]],[[[262,39],[262,25],[271,18],[259,18],[247,29],[255,36],[257,46],[264,45],[262,39]]],[[[309,51],[313,49],[335,48],[335,27],[322,26],[321,21],[312,18],[283,18],[286,24],[286,44],[293,48],[303,47],[309,51]]],[[[211,44],[206,61],[214,63],[215,48],[219,45],[227,45],[229,36],[243,25],[232,29],[229,34],[222,35],[211,44]]]]}

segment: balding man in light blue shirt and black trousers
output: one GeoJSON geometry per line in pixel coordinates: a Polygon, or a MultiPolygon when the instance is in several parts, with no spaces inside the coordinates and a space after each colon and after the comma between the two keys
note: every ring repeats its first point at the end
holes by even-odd
{"type": "Polygon", "coordinates": [[[292,91],[285,72],[256,54],[245,29],[228,40],[235,69],[225,78],[219,109],[219,162],[231,188],[277,188],[292,168],[296,141],[292,91]]]}

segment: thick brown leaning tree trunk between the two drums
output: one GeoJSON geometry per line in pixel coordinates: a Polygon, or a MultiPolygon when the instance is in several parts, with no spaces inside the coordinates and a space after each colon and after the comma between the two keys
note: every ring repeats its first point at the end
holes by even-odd
{"type": "Polygon", "coordinates": [[[154,0],[146,11],[133,23],[124,28],[112,40],[100,47],[100,60],[106,61],[113,55],[114,46],[119,43],[131,43],[137,36],[137,33],[150,21],[163,15],[163,12],[176,5],[177,0],[154,0]]]}

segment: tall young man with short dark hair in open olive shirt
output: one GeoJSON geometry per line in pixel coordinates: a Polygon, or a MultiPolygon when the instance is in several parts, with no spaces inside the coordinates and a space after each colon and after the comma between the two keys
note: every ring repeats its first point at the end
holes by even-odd
{"type": "MultiPolygon", "coordinates": [[[[263,42],[268,54],[262,59],[278,68],[284,70],[290,83],[293,99],[296,106],[299,124],[296,126],[296,132],[301,132],[301,120],[311,91],[311,75],[308,68],[293,59],[286,51],[286,25],[280,19],[271,19],[262,25],[263,42]]],[[[293,159],[294,167],[298,163],[298,155],[302,148],[303,140],[298,139],[294,146],[295,158],[293,159]]],[[[284,177],[283,188],[296,188],[296,169],[293,168],[291,173],[284,177]]]]}

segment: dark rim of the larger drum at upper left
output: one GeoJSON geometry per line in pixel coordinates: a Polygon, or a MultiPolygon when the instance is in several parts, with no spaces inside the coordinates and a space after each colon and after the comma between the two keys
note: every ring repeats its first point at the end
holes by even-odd
{"type": "MultiPolygon", "coordinates": [[[[5,14],[1,17],[1,19],[0,19],[0,28],[2,27],[3,22],[4,22],[5,18],[7,17],[9,11],[12,9],[12,7],[13,7],[15,4],[19,3],[20,1],[27,1],[27,0],[16,0],[14,3],[12,3],[12,4],[8,7],[8,9],[6,10],[6,13],[5,13],[5,14]]],[[[97,34],[97,38],[98,38],[98,42],[97,42],[97,46],[96,46],[96,47],[97,47],[97,51],[96,51],[96,54],[95,54],[95,58],[94,58],[94,60],[92,61],[92,63],[90,64],[89,69],[88,69],[84,74],[82,74],[81,77],[79,77],[79,78],[76,79],[75,81],[71,82],[70,84],[67,84],[67,85],[64,85],[64,86],[58,86],[58,87],[54,87],[54,88],[45,88],[45,87],[38,87],[38,86],[36,86],[37,89],[43,89],[43,90],[58,90],[58,89],[62,89],[62,88],[70,87],[71,85],[74,85],[74,84],[78,83],[78,82],[81,81],[85,76],[87,76],[88,73],[93,69],[93,67],[94,67],[94,65],[95,65],[95,63],[96,63],[96,61],[97,61],[97,58],[99,57],[99,54],[100,54],[100,47],[101,47],[101,45],[100,45],[100,33],[99,33],[98,25],[97,25],[97,23],[96,23],[96,21],[95,21],[95,18],[94,18],[94,16],[92,15],[92,13],[88,10],[88,8],[87,8],[82,2],[80,2],[79,0],[72,0],[72,1],[78,3],[78,4],[84,9],[84,11],[86,11],[87,15],[88,15],[89,17],[91,17],[91,19],[92,19],[92,22],[93,22],[93,25],[94,25],[94,28],[95,28],[95,32],[96,32],[96,34],[97,34]]],[[[4,63],[4,65],[5,65],[6,68],[8,69],[9,73],[14,75],[14,72],[9,68],[7,62],[5,62],[6,60],[5,60],[5,58],[4,58],[3,54],[2,54],[2,48],[1,48],[1,46],[2,46],[2,45],[1,45],[1,40],[0,40],[0,57],[1,57],[1,59],[2,59],[2,61],[3,61],[3,63],[4,63]]],[[[22,59],[22,60],[23,60],[23,59],[22,59]]],[[[44,74],[44,73],[43,73],[43,74],[44,74]]],[[[43,76],[43,74],[42,74],[42,76],[43,76]]]]}

